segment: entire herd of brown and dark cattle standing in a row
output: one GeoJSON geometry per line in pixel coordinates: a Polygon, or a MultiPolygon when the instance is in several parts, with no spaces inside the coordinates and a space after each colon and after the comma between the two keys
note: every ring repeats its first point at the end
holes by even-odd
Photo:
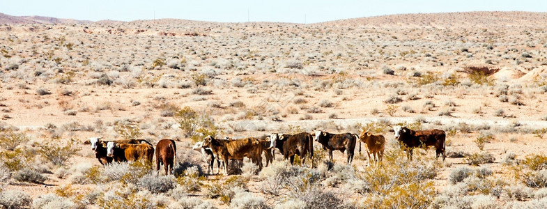
{"type": "MultiPolygon", "coordinates": [[[[401,147],[406,150],[410,159],[412,159],[413,148],[427,148],[434,146],[436,148],[436,157],[445,156],[445,137],[442,130],[411,130],[408,127],[396,125],[390,130],[394,132],[395,139],[399,141],[401,147]]],[[[100,164],[109,164],[111,162],[153,162],[155,153],[156,171],[159,172],[163,164],[165,175],[172,173],[174,162],[176,161],[176,144],[172,139],[162,139],[154,146],[144,139],[123,139],[117,141],[104,141],[101,137],[88,138],[86,144],[91,144],[91,149],[95,152],[95,157],[100,164]]],[[[359,141],[359,151],[361,151],[361,142],[367,148],[369,164],[382,160],[385,137],[383,135],[374,135],[369,130],[364,130],[360,135],[352,133],[332,134],[325,131],[314,131],[311,134],[301,132],[298,134],[270,134],[261,137],[248,137],[245,139],[215,139],[207,136],[203,141],[194,145],[194,150],[201,152],[208,162],[208,173],[213,172],[214,162],[217,162],[218,172],[220,167],[224,169],[224,174],[228,171],[226,165],[229,160],[243,160],[249,158],[259,169],[262,169],[262,153],[265,154],[266,167],[275,159],[275,148],[282,153],[285,160],[291,164],[294,162],[295,155],[300,157],[303,165],[307,158],[314,167],[314,141],[323,146],[328,151],[329,160],[332,162],[332,151],[339,150],[346,153],[346,163],[351,164],[357,141],[359,141]],[[372,155],[372,157],[371,157],[372,155]]]]}

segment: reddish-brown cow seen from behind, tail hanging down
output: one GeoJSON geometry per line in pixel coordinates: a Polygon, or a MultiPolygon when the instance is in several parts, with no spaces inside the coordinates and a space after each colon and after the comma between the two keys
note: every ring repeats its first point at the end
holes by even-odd
{"type": "Polygon", "coordinates": [[[169,174],[173,173],[173,164],[176,158],[176,144],[173,139],[162,139],[157,142],[156,145],[156,172],[160,172],[160,165],[163,164],[165,168],[165,175],[167,171],[169,174]]]}

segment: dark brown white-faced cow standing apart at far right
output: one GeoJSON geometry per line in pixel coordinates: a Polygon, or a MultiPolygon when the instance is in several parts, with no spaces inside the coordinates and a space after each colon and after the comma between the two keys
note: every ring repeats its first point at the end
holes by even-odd
{"type": "Polygon", "coordinates": [[[396,125],[393,127],[393,132],[399,144],[405,146],[408,159],[412,160],[412,153],[415,147],[422,147],[427,150],[428,146],[434,146],[436,158],[442,155],[442,161],[445,161],[445,131],[438,129],[410,130],[408,127],[396,125]]]}

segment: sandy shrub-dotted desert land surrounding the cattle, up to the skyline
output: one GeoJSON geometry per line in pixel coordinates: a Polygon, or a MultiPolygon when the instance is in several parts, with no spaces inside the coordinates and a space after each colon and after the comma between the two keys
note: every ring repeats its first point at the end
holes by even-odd
{"type": "Polygon", "coordinates": [[[546,17],[289,24],[0,15],[0,204],[543,208],[546,17]],[[419,148],[407,160],[394,125],[444,130],[446,161],[419,148]],[[192,150],[210,134],[312,130],[383,134],[384,162],[369,166],[355,149],[351,165],[334,151],[333,166],[316,143],[316,168],[286,165],[277,151],[260,172],[246,161],[233,169],[242,174],[222,176],[209,175],[192,150]],[[100,165],[84,144],[100,136],[175,139],[175,175],[100,165]]]}

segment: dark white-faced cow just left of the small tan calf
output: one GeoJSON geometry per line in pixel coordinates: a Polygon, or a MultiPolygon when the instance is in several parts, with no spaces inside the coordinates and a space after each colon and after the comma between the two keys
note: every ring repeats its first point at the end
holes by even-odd
{"type": "Polygon", "coordinates": [[[346,151],[348,157],[347,164],[353,161],[353,153],[355,152],[355,144],[357,143],[357,134],[331,134],[323,131],[315,132],[315,141],[323,145],[323,149],[328,150],[329,160],[332,162],[332,151],[340,150],[342,153],[346,151]]]}

